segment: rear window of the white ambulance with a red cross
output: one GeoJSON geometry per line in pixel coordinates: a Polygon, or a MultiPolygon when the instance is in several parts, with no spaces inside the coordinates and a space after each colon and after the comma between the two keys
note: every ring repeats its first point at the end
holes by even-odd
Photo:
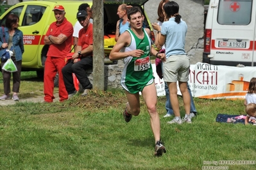
{"type": "Polygon", "coordinates": [[[252,0],[219,1],[218,23],[221,25],[248,25],[252,16],[252,0]]]}

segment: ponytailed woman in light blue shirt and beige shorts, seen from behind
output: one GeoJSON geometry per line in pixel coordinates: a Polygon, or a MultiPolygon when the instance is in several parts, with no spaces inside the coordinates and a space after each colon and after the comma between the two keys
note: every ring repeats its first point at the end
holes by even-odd
{"type": "Polygon", "coordinates": [[[190,109],[191,97],[187,89],[187,81],[189,81],[189,58],[185,52],[185,36],[187,33],[187,24],[181,19],[179,6],[175,1],[164,4],[165,20],[162,24],[161,31],[158,32],[158,43],[160,46],[166,46],[166,62],[163,64],[164,81],[170,92],[171,106],[175,118],[167,123],[183,122],[192,123],[190,109]],[[177,97],[177,85],[183,97],[185,107],[185,117],[180,118],[180,109],[177,97]]]}

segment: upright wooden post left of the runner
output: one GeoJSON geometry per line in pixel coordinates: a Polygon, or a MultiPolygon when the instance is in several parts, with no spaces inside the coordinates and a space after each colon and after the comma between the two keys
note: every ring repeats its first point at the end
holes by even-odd
{"type": "Polygon", "coordinates": [[[104,90],[104,9],[102,0],[92,0],[93,12],[93,89],[104,90]]]}

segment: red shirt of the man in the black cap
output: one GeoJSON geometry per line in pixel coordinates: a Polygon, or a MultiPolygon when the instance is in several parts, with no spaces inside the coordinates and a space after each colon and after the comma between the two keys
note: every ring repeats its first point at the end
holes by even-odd
{"type": "MultiPolygon", "coordinates": [[[[86,49],[89,45],[93,44],[93,29],[92,24],[89,24],[87,29],[80,29],[78,33],[78,45],[81,46],[81,49],[86,49]]],[[[88,54],[88,56],[92,56],[91,54],[88,54]]]]}

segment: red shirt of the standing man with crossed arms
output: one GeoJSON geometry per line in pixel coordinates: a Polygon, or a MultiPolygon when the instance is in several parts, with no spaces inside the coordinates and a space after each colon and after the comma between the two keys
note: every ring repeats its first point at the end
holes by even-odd
{"type": "Polygon", "coordinates": [[[46,36],[58,36],[60,33],[67,36],[62,44],[51,44],[47,52],[47,56],[54,56],[59,58],[65,58],[69,52],[71,52],[71,46],[73,44],[73,25],[65,18],[62,24],[51,23],[46,36]]]}

